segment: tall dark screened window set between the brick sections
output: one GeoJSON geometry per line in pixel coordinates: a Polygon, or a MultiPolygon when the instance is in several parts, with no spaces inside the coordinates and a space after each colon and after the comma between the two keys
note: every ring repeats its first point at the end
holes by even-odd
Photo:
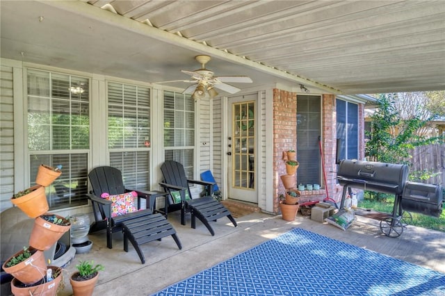
{"type": "Polygon", "coordinates": [[[298,184],[321,184],[321,97],[297,95],[297,171],[298,184]]]}

